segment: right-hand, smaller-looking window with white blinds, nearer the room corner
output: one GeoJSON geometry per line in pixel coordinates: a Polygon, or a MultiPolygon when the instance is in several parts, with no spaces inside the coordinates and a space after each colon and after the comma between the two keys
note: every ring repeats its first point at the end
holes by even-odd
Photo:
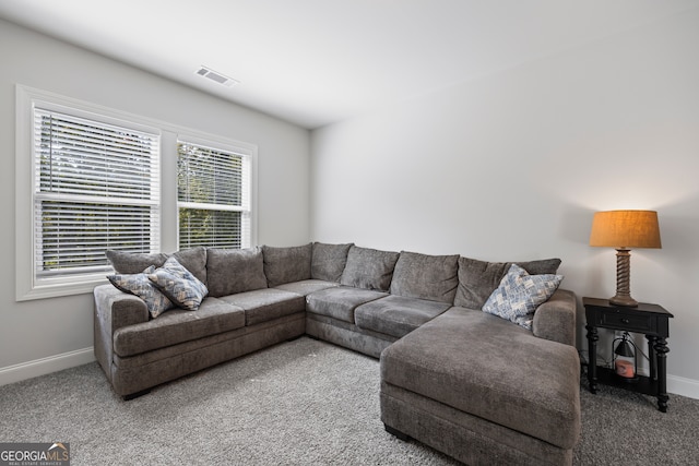
{"type": "Polygon", "coordinates": [[[179,249],[250,246],[250,157],[244,151],[177,143],[179,249]]]}

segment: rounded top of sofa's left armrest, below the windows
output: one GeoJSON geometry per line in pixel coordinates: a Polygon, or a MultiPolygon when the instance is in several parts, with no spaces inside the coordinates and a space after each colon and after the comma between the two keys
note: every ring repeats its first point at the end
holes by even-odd
{"type": "Polygon", "coordinates": [[[95,287],[95,319],[110,335],[123,326],[149,321],[145,302],[111,285],[95,287]]]}

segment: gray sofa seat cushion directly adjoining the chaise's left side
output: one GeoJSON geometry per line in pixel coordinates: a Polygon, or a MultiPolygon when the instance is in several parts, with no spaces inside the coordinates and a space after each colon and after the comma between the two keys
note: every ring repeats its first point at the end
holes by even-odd
{"type": "Polygon", "coordinates": [[[354,321],[359,328],[400,338],[449,308],[451,304],[446,302],[391,295],[359,306],[354,321]]]}

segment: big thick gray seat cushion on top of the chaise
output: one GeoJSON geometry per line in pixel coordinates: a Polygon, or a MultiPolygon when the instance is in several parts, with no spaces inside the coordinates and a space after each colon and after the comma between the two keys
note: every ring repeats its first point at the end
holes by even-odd
{"type": "Polygon", "coordinates": [[[381,354],[381,380],[572,449],[580,433],[576,348],[476,310],[452,308],[381,354]]]}

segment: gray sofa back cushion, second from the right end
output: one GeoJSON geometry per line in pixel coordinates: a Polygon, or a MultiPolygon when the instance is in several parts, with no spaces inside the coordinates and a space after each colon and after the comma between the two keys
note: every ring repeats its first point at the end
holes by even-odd
{"type": "Polygon", "coordinates": [[[451,304],[458,285],[459,254],[426,255],[401,251],[393,271],[391,295],[451,304]]]}

